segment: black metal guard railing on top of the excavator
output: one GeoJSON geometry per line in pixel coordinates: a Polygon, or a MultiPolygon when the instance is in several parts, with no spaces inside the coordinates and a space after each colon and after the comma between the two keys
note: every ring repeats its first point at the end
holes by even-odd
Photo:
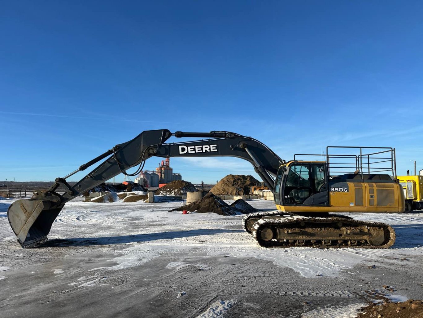
{"type": "Polygon", "coordinates": [[[326,153],[307,154],[298,153],[298,156],[319,156],[327,162],[328,173],[331,176],[352,174],[378,174],[385,172],[396,179],[395,148],[390,147],[353,147],[327,146],[326,153]],[[369,153],[368,153],[369,151],[369,153]]]}

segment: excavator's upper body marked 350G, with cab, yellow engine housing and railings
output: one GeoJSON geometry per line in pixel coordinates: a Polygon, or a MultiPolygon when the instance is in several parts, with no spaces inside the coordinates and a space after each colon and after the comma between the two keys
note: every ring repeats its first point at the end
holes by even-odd
{"type": "MultiPolygon", "coordinates": [[[[277,209],[294,213],[404,212],[392,148],[363,154],[368,147],[328,147],[326,161],[294,160],[279,167],[274,197],[277,209]],[[359,154],[330,154],[357,148],[359,154]],[[386,172],[390,172],[387,174],[386,172]]],[[[371,148],[374,149],[374,148],[371,148]]]]}

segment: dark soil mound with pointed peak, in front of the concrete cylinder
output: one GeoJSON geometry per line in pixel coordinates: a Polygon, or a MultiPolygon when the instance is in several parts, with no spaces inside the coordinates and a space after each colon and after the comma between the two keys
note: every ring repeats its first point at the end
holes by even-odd
{"type": "Polygon", "coordinates": [[[203,198],[194,203],[187,204],[181,206],[177,209],[173,209],[170,211],[190,211],[194,212],[197,211],[199,213],[217,213],[219,215],[234,215],[239,212],[237,209],[229,206],[225,201],[221,198],[217,197],[213,193],[209,192],[203,198]]]}

